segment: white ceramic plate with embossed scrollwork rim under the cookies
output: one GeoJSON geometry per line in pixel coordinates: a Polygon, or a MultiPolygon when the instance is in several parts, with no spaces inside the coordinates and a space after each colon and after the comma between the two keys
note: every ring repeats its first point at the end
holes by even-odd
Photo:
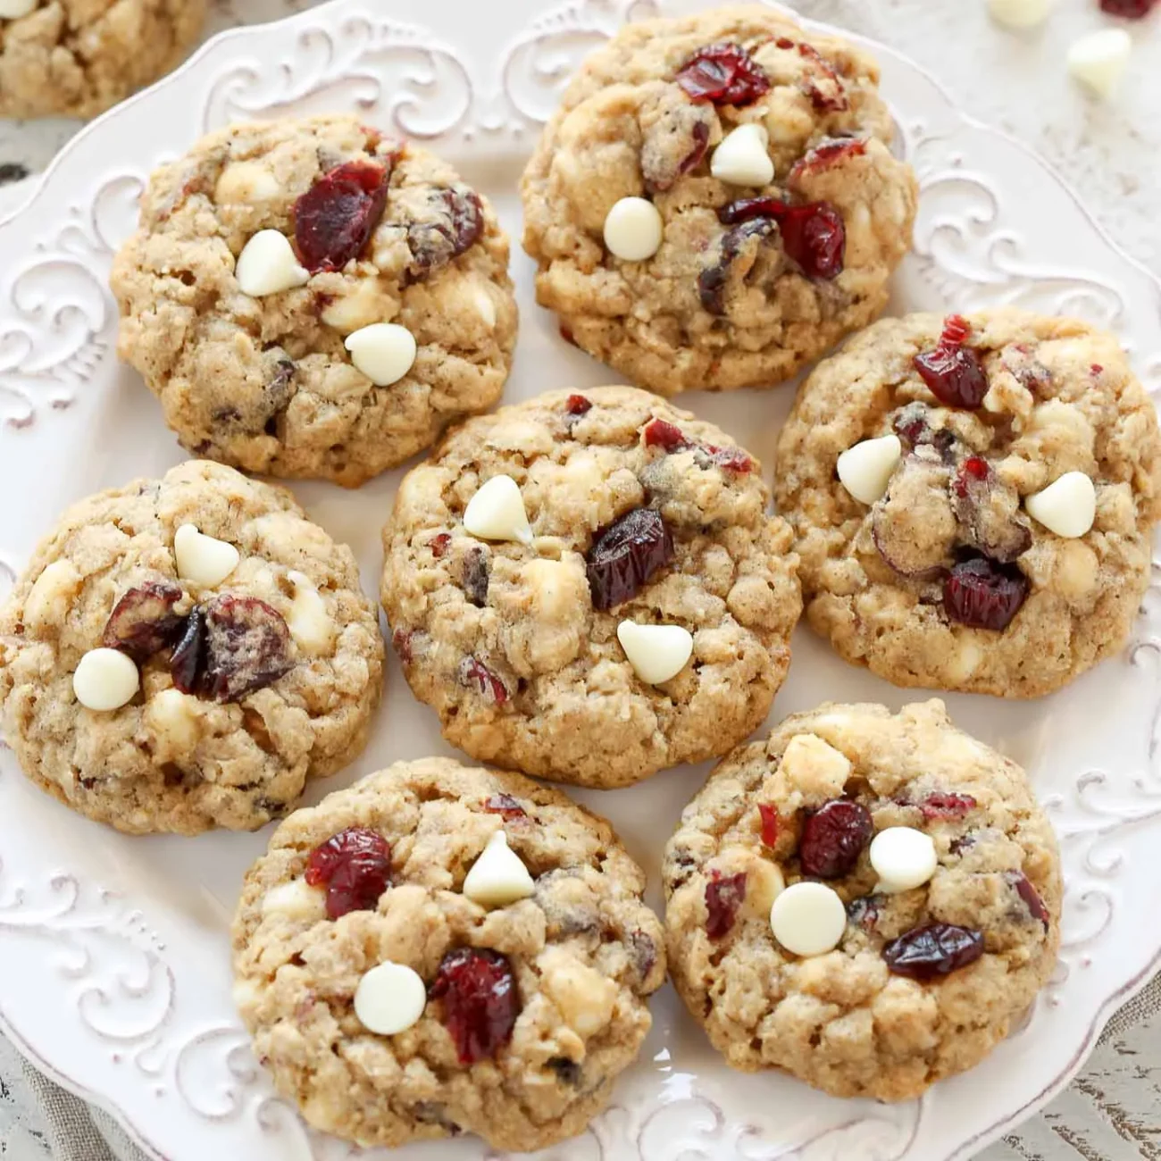
{"type": "MultiPolygon", "coordinates": [[[[65,504],[181,459],[154,401],[114,358],[106,289],[147,172],[230,120],[354,108],[432,140],[518,238],[517,176],[567,73],[622,21],[698,6],[556,2],[339,0],[218,38],[75,138],[0,226],[0,597],[65,504]]],[[[916,253],[899,275],[895,310],[1011,303],[1076,312],[1116,330],[1148,388],[1161,389],[1161,284],[1037,158],[957,113],[914,65],[881,46],[878,55],[900,150],[923,185],[916,253]]],[[[525,313],[506,398],[610,381],[536,309],[522,254],[514,269],[525,313]]],[[[743,439],[769,471],[791,396],[682,403],[743,439]]],[[[356,495],[295,488],[316,520],[354,546],[368,592],[398,476],[356,495]]],[[[825,698],[899,706],[915,695],[848,668],[805,630],[794,647],[776,716],[825,698]]],[[[729,1073],[666,988],[613,1108],[551,1156],[944,1161],[971,1155],[1067,1083],[1109,1014],[1161,968],[1161,594],[1151,590],[1122,656],[1060,694],[1034,704],[949,700],[960,724],[1027,767],[1062,841],[1061,961],[1029,1021],[974,1072],[920,1102],[886,1106],[729,1073]]],[[[434,716],[392,662],[369,751],[310,800],[391,759],[446,752],[434,716]]],[[[154,1158],[352,1155],[308,1133],[273,1097],[231,1008],[228,924],[266,836],[129,839],[33,788],[7,751],[0,770],[0,1026],[64,1084],[113,1111],[154,1158]]],[[[704,773],[578,794],[613,819],[650,871],[655,904],[662,846],[704,773]]],[[[488,1154],[468,1139],[397,1155],[488,1154]]]]}

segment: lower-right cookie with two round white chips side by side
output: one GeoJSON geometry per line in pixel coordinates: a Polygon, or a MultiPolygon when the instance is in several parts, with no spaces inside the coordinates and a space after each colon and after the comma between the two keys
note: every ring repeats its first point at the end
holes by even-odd
{"type": "Polygon", "coordinates": [[[1047,982],[1057,842],[943,702],[825,705],[736,750],[665,850],[670,973],[727,1063],[904,1101],[1047,982]]]}

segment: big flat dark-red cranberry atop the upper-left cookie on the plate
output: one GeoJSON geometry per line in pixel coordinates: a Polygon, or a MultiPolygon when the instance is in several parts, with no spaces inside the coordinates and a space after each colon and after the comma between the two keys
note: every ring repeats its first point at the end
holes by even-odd
{"type": "Polygon", "coordinates": [[[347,161],[295,202],[294,236],[308,271],[340,271],[362,253],[383,216],[390,176],[387,166],[347,161]]]}

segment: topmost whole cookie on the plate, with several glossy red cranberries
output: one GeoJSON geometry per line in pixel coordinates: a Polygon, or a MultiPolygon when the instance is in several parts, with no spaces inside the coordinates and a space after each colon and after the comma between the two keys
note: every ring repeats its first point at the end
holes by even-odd
{"type": "Polygon", "coordinates": [[[522,181],[564,336],[641,387],[772,387],[887,304],[917,187],[863,50],[758,6],[627,26],[522,181]]]}

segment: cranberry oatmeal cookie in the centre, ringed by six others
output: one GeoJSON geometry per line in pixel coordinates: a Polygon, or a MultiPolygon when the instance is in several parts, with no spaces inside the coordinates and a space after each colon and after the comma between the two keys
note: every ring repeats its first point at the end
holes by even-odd
{"type": "Polygon", "coordinates": [[[399,486],[382,597],[412,692],[481,760],[623,786],[765,717],[801,599],[759,464],[657,396],[551,391],[399,486]]]}

